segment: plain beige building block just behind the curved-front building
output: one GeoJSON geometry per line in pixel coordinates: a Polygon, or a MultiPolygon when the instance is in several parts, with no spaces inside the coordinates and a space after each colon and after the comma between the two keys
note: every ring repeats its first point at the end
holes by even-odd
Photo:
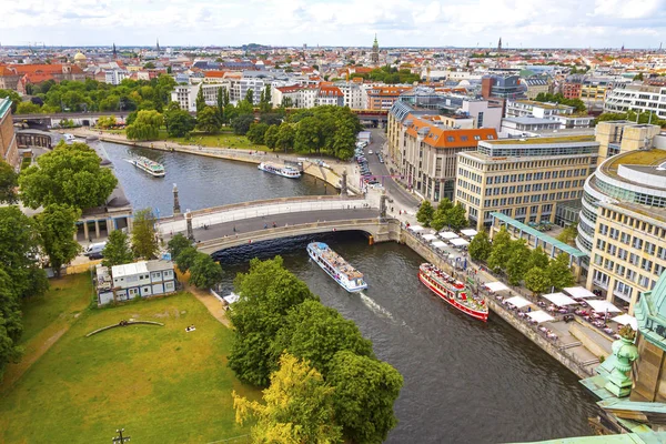
{"type": "Polygon", "coordinates": [[[634,123],[626,120],[599,122],[595,128],[601,143],[599,161],[629,151],[647,149],[662,129],[657,125],[634,123]]]}

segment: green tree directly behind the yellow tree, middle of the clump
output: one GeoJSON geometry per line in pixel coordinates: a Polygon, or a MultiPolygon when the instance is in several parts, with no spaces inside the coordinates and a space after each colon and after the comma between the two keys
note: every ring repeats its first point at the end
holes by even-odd
{"type": "Polygon", "coordinates": [[[324,375],[330,370],[330,361],[341,350],[374,357],[372,342],[363,337],[356,324],[319,301],[305,301],[293,307],[271,344],[274,365],[286,351],[310,361],[324,375]]]}

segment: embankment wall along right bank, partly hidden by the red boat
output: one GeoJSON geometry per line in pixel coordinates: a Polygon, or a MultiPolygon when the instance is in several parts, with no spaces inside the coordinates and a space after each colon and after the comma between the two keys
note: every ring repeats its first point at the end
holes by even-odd
{"type": "MultiPolygon", "coordinates": [[[[400,243],[403,243],[410,249],[412,249],[414,252],[416,252],[416,254],[425,259],[427,262],[434,264],[441,270],[444,270],[454,278],[461,281],[465,281],[465,275],[462,271],[454,270],[454,268],[448,262],[446,262],[442,256],[433,252],[428,246],[424,245],[423,241],[418,240],[418,238],[416,238],[408,230],[403,228],[398,238],[400,243]]],[[[543,351],[545,351],[555,360],[557,360],[562,365],[571,370],[578,377],[585,379],[592,375],[583,365],[575,361],[573,356],[565,353],[564,350],[561,350],[556,344],[548,341],[537,331],[533,330],[523,320],[517,319],[513,312],[506,310],[502,304],[498,304],[497,301],[493,300],[492,297],[486,297],[486,303],[488,305],[488,309],[495,315],[498,315],[518,332],[523,333],[525,337],[538,345],[543,351]]]]}

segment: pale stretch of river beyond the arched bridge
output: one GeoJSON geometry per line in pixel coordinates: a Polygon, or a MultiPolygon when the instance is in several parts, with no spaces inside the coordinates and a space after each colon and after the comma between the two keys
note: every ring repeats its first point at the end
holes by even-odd
{"type": "Polygon", "coordinates": [[[173,184],[178,184],[182,211],[262,199],[309,194],[335,194],[333,186],[304,174],[285,179],[259,171],[255,164],[200,155],[93,142],[113,163],[115,175],[134,210],[152,208],[161,216],[173,214],[173,184]],[[164,178],[152,178],[124,159],[143,155],[164,165],[164,178]]]}

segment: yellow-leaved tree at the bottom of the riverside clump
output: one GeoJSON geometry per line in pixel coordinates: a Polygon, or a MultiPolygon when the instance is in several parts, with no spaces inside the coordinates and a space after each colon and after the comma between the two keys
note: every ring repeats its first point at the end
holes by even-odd
{"type": "Polygon", "coordinates": [[[263,391],[263,403],[232,393],[236,422],[255,418],[254,443],[337,443],[342,431],[335,425],[334,390],[309,363],[285,354],[280,370],[263,391]]]}

